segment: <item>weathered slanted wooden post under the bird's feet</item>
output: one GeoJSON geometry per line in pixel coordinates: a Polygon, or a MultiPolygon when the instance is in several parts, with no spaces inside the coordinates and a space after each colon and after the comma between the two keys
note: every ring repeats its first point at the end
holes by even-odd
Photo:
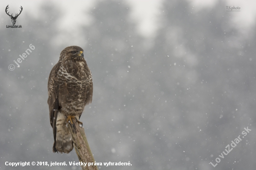
{"type": "Polygon", "coordinates": [[[72,134],[73,142],[74,142],[74,149],[79,158],[79,161],[82,163],[87,163],[86,166],[82,166],[82,170],[98,170],[97,165],[94,165],[94,157],[90,150],[84,128],[80,127],[76,118],[72,118],[74,123],[68,123],[68,129],[72,134]],[[88,163],[92,163],[88,166],[88,163]]]}

